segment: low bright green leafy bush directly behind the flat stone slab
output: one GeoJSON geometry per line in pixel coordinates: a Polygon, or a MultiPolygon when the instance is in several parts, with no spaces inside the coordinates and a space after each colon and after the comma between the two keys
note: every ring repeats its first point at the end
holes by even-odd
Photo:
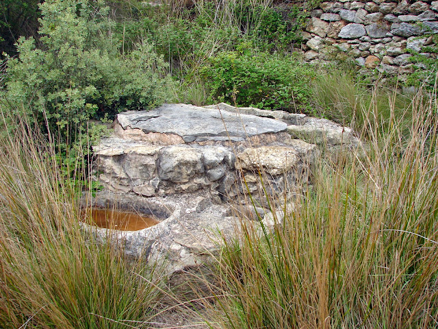
{"type": "Polygon", "coordinates": [[[203,68],[211,101],[289,111],[310,110],[311,66],[268,53],[226,51],[203,68]]]}

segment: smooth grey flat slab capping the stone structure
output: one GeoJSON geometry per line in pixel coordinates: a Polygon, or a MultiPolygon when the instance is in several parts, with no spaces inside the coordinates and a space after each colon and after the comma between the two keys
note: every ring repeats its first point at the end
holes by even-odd
{"type": "Polygon", "coordinates": [[[250,136],[275,134],[287,129],[287,123],[275,119],[186,104],[164,104],[155,110],[124,112],[118,114],[117,121],[124,130],[178,135],[185,143],[238,142],[250,136]]]}

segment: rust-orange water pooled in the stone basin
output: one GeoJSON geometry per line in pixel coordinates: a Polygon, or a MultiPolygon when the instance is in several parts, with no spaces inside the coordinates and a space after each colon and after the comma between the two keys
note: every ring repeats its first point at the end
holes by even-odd
{"type": "Polygon", "coordinates": [[[110,228],[112,230],[138,231],[159,223],[159,221],[151,217],[110,209],[92,208],[88,210],[88,214],[90,214],[94,221],[94,225],[99,226],[99,228],[110,228]]]}

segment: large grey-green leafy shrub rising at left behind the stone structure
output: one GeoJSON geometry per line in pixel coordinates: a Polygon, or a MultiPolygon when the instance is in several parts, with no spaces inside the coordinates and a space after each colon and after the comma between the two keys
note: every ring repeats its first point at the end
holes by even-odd
{"type": "Polygon", "coordinates": [[[164,60],[147,43],[121,56],[102,1],[53,0],[40,9],[40,46],[21,38],[18,58],[8,58],[6,98],[16,114],[31,111],[36,123],[47,120],[66,136],[90,118],[149,108],[168,96],[164,60]]]}

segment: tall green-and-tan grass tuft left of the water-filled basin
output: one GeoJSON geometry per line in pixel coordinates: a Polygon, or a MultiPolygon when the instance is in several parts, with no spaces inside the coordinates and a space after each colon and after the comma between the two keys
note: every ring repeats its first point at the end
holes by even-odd
{"type": "Polygon", "coordinates": [[[53,145],[20,123],[0,158],[0,328],[147,327],[153,268],[81,230],[53,145]]]}

